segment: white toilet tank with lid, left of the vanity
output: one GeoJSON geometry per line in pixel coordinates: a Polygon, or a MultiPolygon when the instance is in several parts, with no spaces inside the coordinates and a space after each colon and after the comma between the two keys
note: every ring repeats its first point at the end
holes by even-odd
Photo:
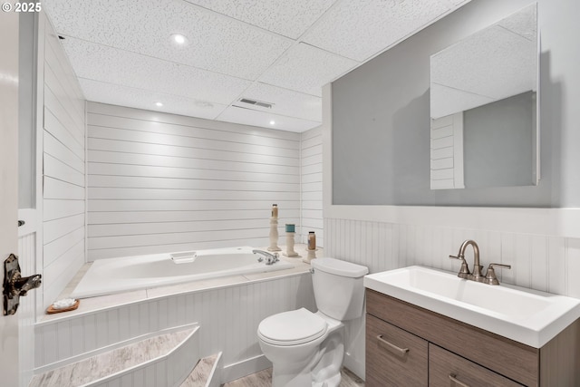
{"type": "Polygon", "coordinates": [[[316,306],[333,319],[346,321],[362,315],[366,266],[324,257],[311,261],[316,306]]]}

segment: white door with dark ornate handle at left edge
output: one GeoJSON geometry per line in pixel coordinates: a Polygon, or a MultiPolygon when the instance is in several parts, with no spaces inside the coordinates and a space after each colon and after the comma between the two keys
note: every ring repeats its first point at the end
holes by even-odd
{"type": "MultiPolygon", "coordinates": [[[[0,275],[18,248],[18,14],[0,12],[0,275]]],[[[0,381],[19,385],[18,314],[0,314],[0,381]]],[[[31,354],[32,355],[32,354],[31,354]]]]}

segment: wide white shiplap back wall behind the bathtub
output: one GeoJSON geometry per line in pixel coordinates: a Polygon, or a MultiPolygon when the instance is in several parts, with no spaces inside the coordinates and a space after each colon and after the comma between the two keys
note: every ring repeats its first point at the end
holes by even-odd
{"type": "MultiPolygon", "coordinates": [[[[267,246],[300,221],[300,134],[88,103],[88,260],[267,246]]],[[[280,239],[282,240],[282,239],[280,239]]]]}

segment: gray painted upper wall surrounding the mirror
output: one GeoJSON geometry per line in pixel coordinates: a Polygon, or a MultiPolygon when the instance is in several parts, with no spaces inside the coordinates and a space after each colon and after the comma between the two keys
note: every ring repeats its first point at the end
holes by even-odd
{"type": "Polygon", "coordinates": [[[537,2],[539,185],[430,190],[430,55],[531,3],[473,0],[333,82],[333,204],[580,206],[576,0],[537,2]]]}

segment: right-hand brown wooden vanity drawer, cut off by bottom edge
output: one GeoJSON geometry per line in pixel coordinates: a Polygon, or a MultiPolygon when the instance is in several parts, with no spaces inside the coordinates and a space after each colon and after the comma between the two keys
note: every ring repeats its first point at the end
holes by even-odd
{"type": "Polygon", "coordinates": [[[522,384],[429,344],[429,385],[435,387],[521,387],[522,384]]]}

